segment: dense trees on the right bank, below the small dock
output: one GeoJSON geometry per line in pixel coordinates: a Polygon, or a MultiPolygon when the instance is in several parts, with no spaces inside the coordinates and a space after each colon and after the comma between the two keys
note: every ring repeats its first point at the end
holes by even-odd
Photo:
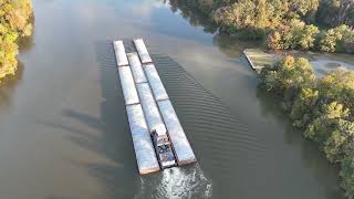
{"type": "Polygon", "coordinates": [[[261,86],[281,97],[293,125],[340,164],[342,186],[354,197],[354,71],[317,78],[306,59],[287,56],[260,73],[261,86]]]}

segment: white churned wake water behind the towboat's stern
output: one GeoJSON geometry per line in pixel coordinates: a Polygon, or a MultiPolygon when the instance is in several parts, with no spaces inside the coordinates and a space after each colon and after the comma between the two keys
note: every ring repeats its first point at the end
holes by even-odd
{"type": "Polygon", "coordinates": [[[139,198],[211,198],[212,185],[198,164],[173,167],[158,175],[140,177],[140,189],[135,196],[139,198]]]}

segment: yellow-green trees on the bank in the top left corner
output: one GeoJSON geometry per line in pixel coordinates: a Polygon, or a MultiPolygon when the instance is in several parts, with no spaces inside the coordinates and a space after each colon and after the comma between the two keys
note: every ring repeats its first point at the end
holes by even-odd
{"type": "Polygon", "coordinates": [[[0,84],[18,71],[19,39],[32,34],[30,0],[0,0],[0,84]]]}

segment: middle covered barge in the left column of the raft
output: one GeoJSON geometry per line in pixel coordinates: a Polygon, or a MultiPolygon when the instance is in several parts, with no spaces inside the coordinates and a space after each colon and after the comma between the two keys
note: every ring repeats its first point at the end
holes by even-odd
{"type": "Polygon", "coordinates": [[[121,84],[123,88],[125,105],[139,103],[139,97],[135,88],[131,67],[129,66],[118,67],[118,73],[121,77],[121,84]]]}

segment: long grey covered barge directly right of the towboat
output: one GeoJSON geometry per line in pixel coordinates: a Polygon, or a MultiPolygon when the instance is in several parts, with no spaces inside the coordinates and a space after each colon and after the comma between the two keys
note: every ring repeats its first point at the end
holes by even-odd
{"type": "Polygon", "coordinates": [[[189,145],[170,101],[160,101],[157,102],[157,104],[173,143],[178,165],[186,165],[196,161],[196,156],[189,145]]]}

